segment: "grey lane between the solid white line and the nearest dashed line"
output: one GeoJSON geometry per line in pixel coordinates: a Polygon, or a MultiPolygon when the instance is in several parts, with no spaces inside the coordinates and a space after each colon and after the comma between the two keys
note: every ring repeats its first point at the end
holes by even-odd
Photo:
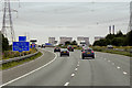
{"type": "Polygon", "coordinates": [[[51,65],[9,86],[64,86],[70,79],[70,74],[76,68],[78,61],[73,55],[74,53],[70,53],[70,57],[59,57],[59,53],[56,54],[58,57],[51,65]]]}

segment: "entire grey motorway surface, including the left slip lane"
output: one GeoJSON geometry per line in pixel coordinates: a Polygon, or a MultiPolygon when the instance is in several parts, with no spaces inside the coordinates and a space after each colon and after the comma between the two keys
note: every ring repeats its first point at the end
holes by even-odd
{"type": "Polygon", "coordinates": [[[3,86],[130,86],[128,56],[96,52],[95,59],[81,59],[79,50],[69,57],[53,48],[40,51],[40,58],[3,70],[3,86]]]}

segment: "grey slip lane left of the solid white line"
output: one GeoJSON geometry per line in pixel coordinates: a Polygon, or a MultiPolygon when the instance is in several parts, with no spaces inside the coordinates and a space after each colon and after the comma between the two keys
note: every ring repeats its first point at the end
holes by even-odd
{"type": "Polygon", "coordinates": [[[30,73],[34,70],[35,68],[38,68],[40,66],[51,62],[55,55],[51,52],[45,52],[40,50],[43,55],[34,61],[28,62],[25,64],[22,64],[20,66],[2,70],[2,82],[6,84],[14,78],[18,78],[26,73],[30,73]],[[48,59],[47,59],[48,57],[48,59]]]}

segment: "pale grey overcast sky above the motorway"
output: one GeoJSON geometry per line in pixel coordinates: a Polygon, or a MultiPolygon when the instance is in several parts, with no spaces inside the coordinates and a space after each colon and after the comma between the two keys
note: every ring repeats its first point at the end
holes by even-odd
{"type": "MultiPolygon", "coordinates": [[[[116,25],[116,32],[119,30],[128,32],[129,2],[78,0],[78,2],[21,2],[21,7],[18,6],[19,3],[11,6],[18,10],[18,13],[12,12],[15,36],[26,34],[29,38],[37,38],[38,44],[48,42],[50,36],[56,37],[57,41],[59,36],[70,36],[74,40],[77,36],[87,36],[92,44],[95,36],[108,34],[109,25],[116,25]]],[[[2,24],[2,12],[0,12],[0,24],[2,24]]]]}

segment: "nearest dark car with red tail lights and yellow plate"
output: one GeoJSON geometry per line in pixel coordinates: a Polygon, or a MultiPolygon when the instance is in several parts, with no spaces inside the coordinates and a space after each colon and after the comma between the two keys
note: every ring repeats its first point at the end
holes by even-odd
{"type": "Polygon", "coordinates": [[[92,58],[95,58],[95,52],[91,48],[84,50],[82,53],[81,53],[81,57],[82,57],[82,59],[85,57],[92,57],[92,58]]]}

